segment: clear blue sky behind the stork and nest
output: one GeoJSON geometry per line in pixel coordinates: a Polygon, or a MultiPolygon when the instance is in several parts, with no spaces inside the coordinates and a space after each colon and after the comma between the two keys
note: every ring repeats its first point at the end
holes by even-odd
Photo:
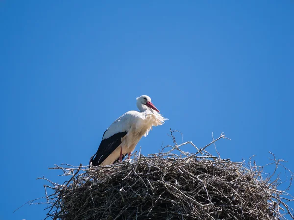
{"type": "Polygon", "coordinates": [[[143,154],[169,128],[199,147],[225,132],[223,158],[294,168],[294,2],[181,2],[0,0],[0,220],[44,218],[12,212],[44,195],[37,177],[60,181],[48,167],[88,164],[143,94],[169,118],[143,154]]]}

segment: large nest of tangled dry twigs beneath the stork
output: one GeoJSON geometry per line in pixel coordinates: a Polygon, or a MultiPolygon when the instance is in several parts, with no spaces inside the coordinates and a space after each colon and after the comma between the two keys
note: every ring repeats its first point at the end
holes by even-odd
{"type": "MultiPolygon", "coordinates": [[[[221,138],[225,136],[210,144],[221,138]]],[[[262,167],[213,156],[207,146],[199,149],[191,142],[175,142],[166,152],[148,156],[139,152],[131,161],[109,166],[51,168],[71,178],[64,184],[46,179],[47,218],[272,220],[286,219],[286,214],[293,218],[286,204],[290,199],[284,198],[289,194],[277,189],[278,179],[263,178],[262,167]],[[180,150],[185,144],[192,144],[196,153],[180,150]]]]}

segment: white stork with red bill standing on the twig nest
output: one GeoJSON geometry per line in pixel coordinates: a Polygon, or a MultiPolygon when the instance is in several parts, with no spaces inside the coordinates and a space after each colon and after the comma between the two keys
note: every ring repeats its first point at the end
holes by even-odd
{"type": "Polygon", "coordinates": [[[152,126],[162,125],[167,120],[159,114],[147,95],[137,98],[137,107],[140,112],[126,112],[104,132],[96,154],[90,158],[90,166],[113,164],[122,161],[126,154],[130,159],[142,136],[146,137],[152,126]]]}

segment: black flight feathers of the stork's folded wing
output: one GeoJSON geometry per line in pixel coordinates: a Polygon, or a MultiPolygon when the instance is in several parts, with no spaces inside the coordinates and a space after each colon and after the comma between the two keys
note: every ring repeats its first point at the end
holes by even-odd
{"type": "Polygon", "coordinates": [[[122,143],[121,138],[126,134],[127,132],[120,132],[102,140],[96,154],[90,158],[89,165],[91,162],[92,166],[100,165],[122,143]]]}

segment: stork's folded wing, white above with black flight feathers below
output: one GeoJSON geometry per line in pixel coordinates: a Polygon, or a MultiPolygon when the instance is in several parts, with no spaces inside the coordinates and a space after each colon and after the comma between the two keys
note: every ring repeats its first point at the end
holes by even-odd
{"type": "Polygon", "coordinates": [[[132,119],[136,113],[129,111],[109,126],[103,134],[102,141],[96,154],[90,158],[89,164],[92,162],[92,166],[100,165],[118,146],[120,146],[122,143],[121,139],[130,130],[132,119]]]}

